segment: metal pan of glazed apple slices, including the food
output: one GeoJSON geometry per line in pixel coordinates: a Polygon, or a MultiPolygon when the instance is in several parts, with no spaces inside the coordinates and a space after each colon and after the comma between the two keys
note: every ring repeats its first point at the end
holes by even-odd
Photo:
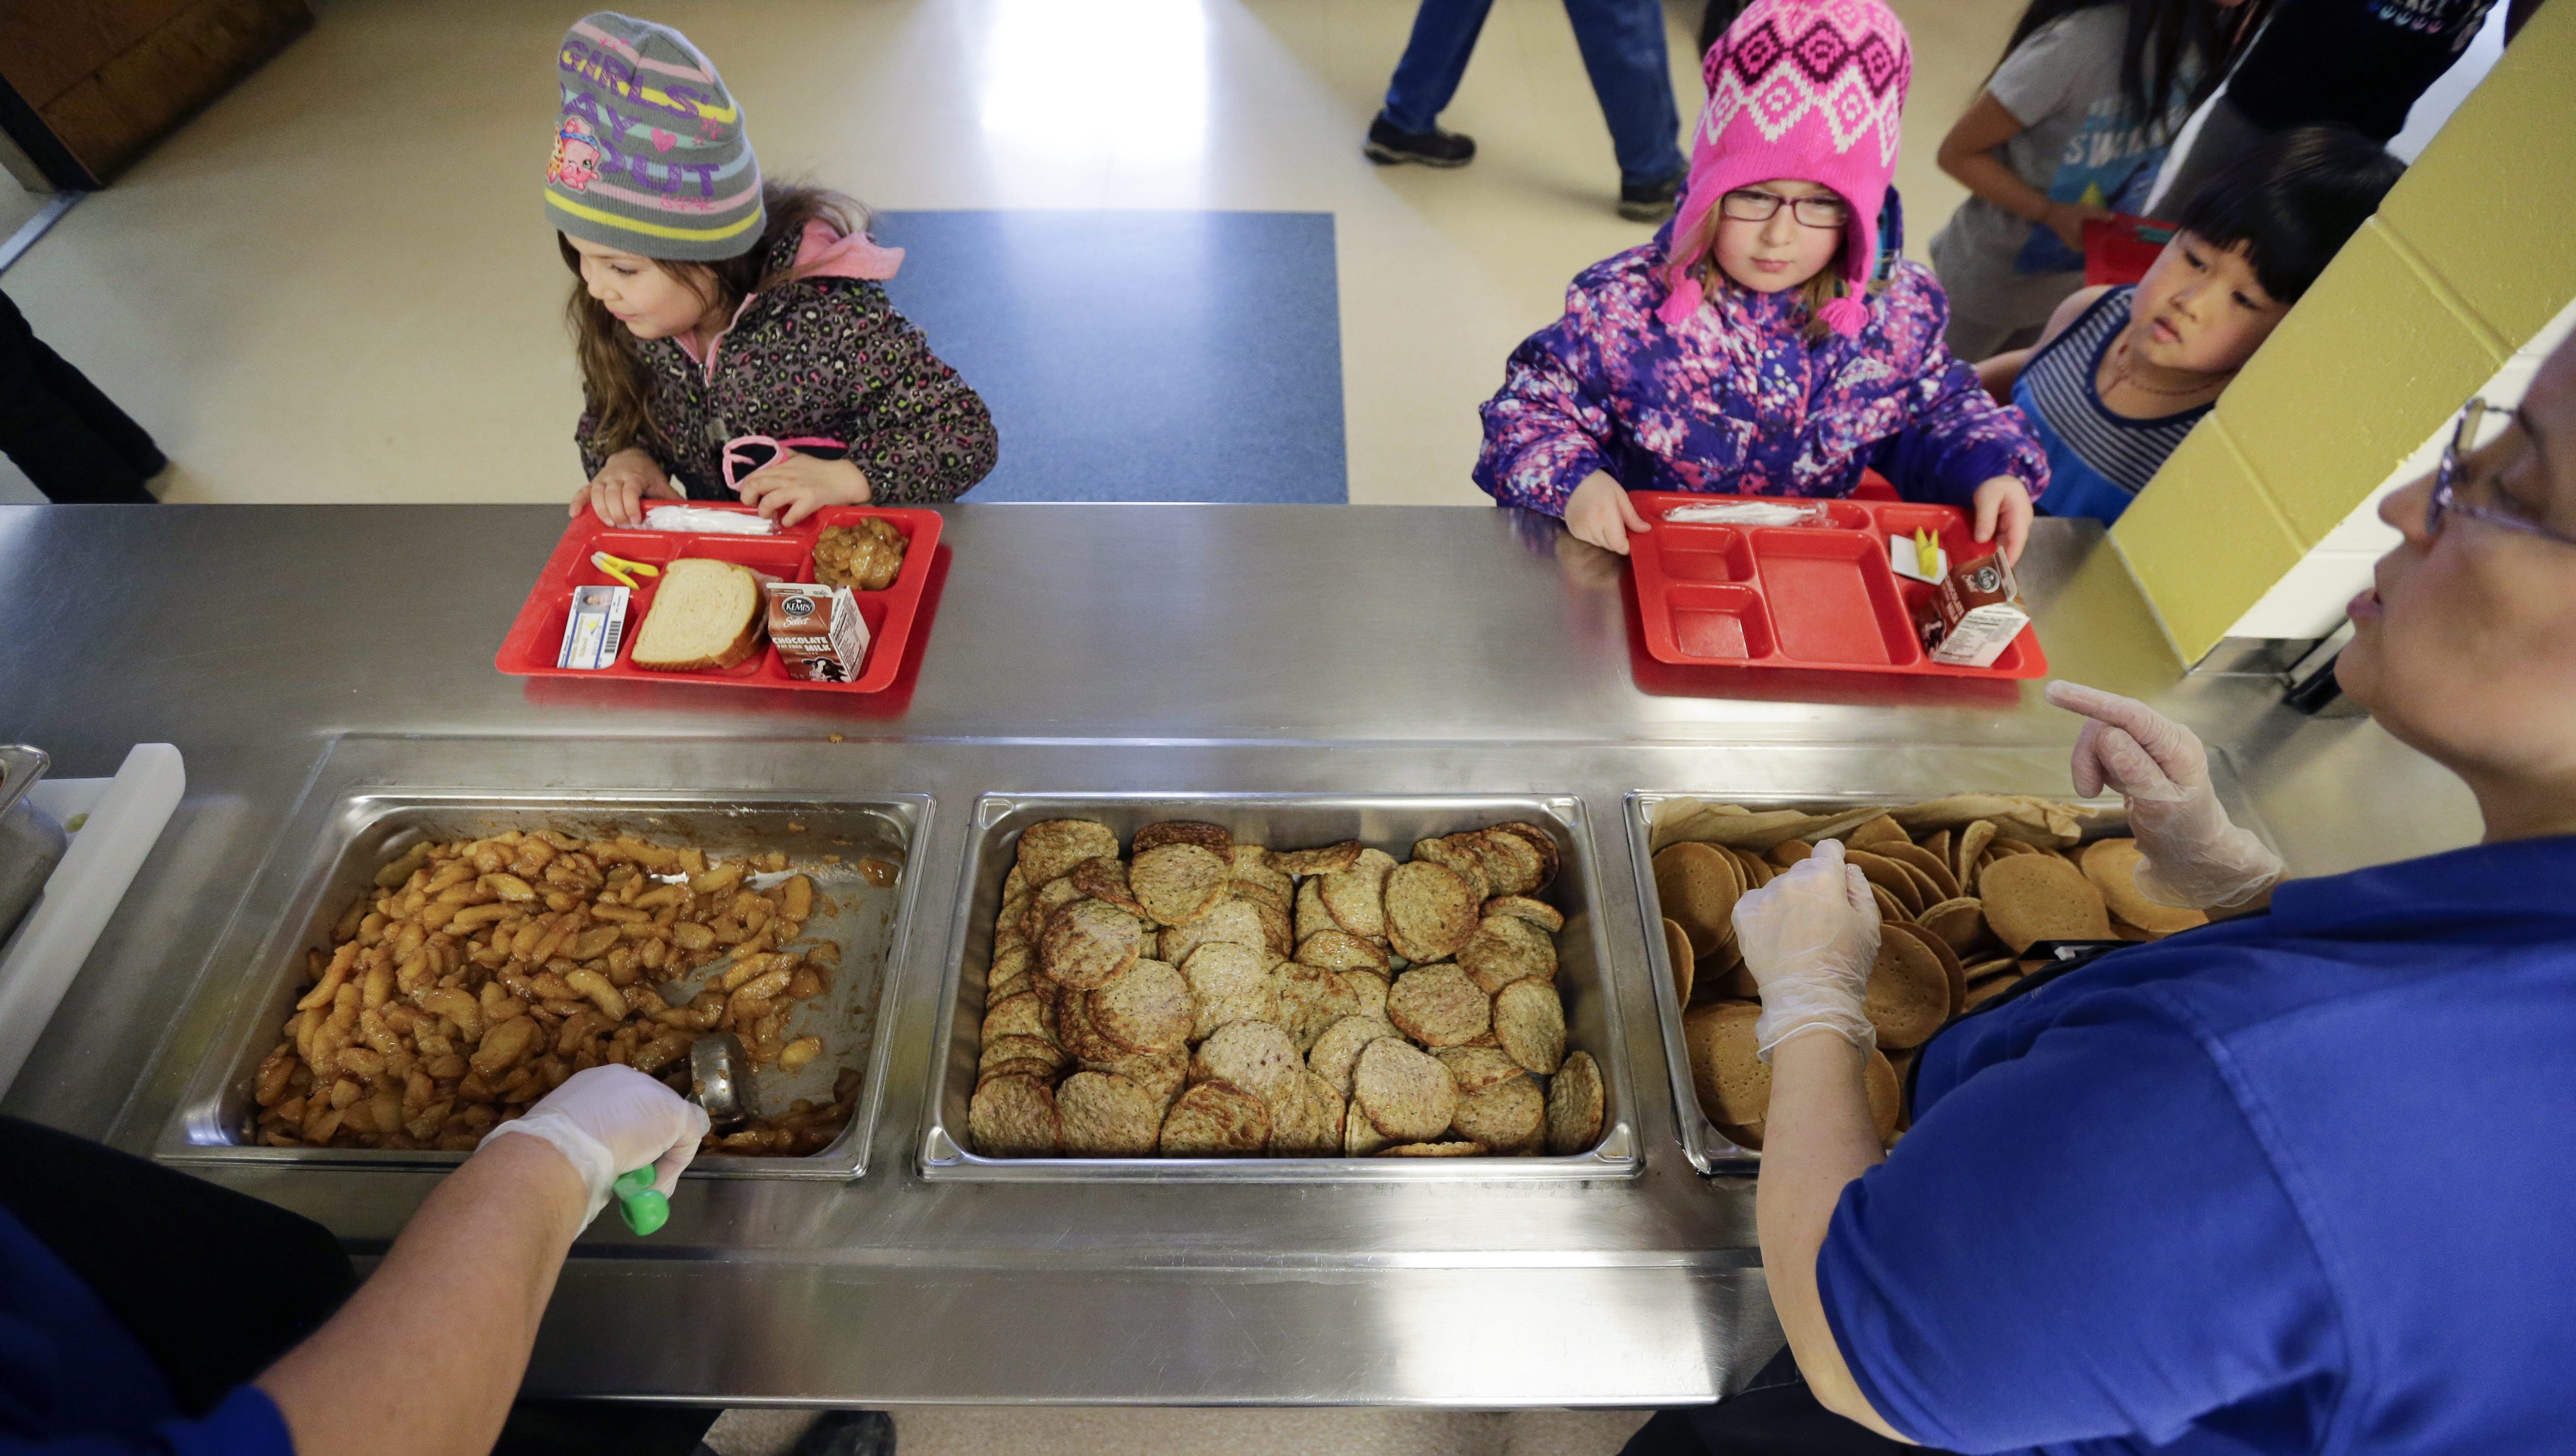
{"type": "MultiPolygon", "coordinates": [[[[927,796],[358,789],[258,935],[178,1162],[438,1162],[564,1077],[690,1093],[734,1033],[752,1118],[690,1178],[855,1178],[927,796]]],[[[229,946],[227,946],[229,953],[229,946]]]]}

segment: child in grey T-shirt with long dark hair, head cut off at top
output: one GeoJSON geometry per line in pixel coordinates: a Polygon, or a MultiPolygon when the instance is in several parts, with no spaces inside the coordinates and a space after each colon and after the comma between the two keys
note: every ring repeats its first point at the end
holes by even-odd
{"type": "Polygon", "coordinates": [[[1950,353],[2030,343],[2084,286],[2084,222],[2146,211],[2164,152],[2269,0],[2030,0],[1940,142],[1973,196],[1932,237],[1950,353]]]}

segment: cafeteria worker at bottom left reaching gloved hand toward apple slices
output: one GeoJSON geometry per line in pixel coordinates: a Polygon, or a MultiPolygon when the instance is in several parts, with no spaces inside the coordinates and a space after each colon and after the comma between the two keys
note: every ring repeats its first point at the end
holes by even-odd
{"type": "Polygon", "coordinates": [[[492,1451],[574,1234],[623,1170],[654,1167],[667,1196],[703,1134],[634,1067],[574,1072],[330,1312],[348,1260],[317,1224],[0,1118],[0,1456],[492,1451]],[[281,1353],[278,1330],[304,1337],[281,1353]]]}

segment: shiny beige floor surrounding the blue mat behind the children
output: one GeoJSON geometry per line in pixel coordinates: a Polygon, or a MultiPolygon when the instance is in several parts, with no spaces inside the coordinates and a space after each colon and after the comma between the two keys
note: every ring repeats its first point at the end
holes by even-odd
{"type": "MultiPolygon", "coordinates": [[[[562,5],[317,0],[312,36],[75,209],[0,286],[178,461],[173,500],[556,500],[580,407],[538,206],[562,5]]],[[[2017,0],[1896,0],[1914,250],[1932,142],[2017,0]]],[[[1558,0],[1499,0],[1445,124],[1461,173],[1358,137],[1412,0],[665,0],[773,173],[889,209],[1337,216],[1355,503],[1479,505],[1476,405],[1566,278],[1643,237],[1558,0]]],[[[1698,0],[1669,0],[1685,119],[1698,0]]],[[[8,183],[0,180],[0,188],[8,183]]],[[[8,474],[0,469],[0,474],[8,474]]],[[[23,477],[0,479],[0,492],[23,477]]]]}

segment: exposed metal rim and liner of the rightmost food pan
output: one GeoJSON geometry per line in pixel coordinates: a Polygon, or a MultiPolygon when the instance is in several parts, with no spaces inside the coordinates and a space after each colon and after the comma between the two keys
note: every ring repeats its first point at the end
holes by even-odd
{"type": "MultiPolygon", "coordinates": [[[[1801,809],[1811,814],[1839,814],[1860,804],[1922,804],[1924,799],[1942,799],[1950,794],[2035,794],[2043,799],[2058,799],[2081,809],[2092,809],[2099,817],[2087,827],[2087,838],[2125,835],[2128,822],[2120,817],[2120,796],[2102,794],[2094,799],[2079,799],[2066,791],[2066,750],[2012,750],[2012,747],[1958,747],[1940,750],[1937,745],[1906,747],[1893,752],[1873,752],[1868,760],[1834,752],[1834,750],[1808,750],[1808,752],[1783,752],[1783,750],[1752,750],[1739,755],[1747,763],[1744,789],[1698,789],[1698,791],[1636,791],[1628,794],[1625,819],[1628,819],[1628,850],[1636,866],[1636,902],[1643,912],[1643,941],[1646,964],[1654,982],[1654,1008],[1656,1023],[1664,1031],[1664,1064],[1672,1072],[1672,1113],[1674,1124],[1682,1129],[1682,1152],[1690,1154],[1690,1165],[1700,1173],[1739,1173],[1749,1175],[1762,1165],[1762,1154],[1749,1147],[1736,1147],[1718,1124],[1700,1111],[1700,1093],[1690,1080],[1690,1049],[1682,1041],[1682,1000],[1672,979],[1672,953],[1664,946],[1664,902],[1654,892],[1654,814],[1669,799],[1700,799],[1705,804],[1739,804],[1744,809],[1801,809]],[[1832,763],[1850,778],[1883,778],[1888,783],[1901,783],[1896,789],[1880,791],[1829,791],[1829,794],[1801,794],[1783,789],[1783,781],[1801,778],[1808,765],[1806,760],[1832,763]],[[1757,768],[1759,763],[1759,768],[1757,768]],[[2050,791],[2056,786],[2056,791],[2050,791]]],[[[2233,760],[2226,750],[2210,750],[2210,778],[2218,786],[2218,799],[2226,804],[2228,814],[2254,830],[2267,845],[2272,843],[2269,830],[2262,825],[2254,807],[2239,789],[2233,760]]]]}

